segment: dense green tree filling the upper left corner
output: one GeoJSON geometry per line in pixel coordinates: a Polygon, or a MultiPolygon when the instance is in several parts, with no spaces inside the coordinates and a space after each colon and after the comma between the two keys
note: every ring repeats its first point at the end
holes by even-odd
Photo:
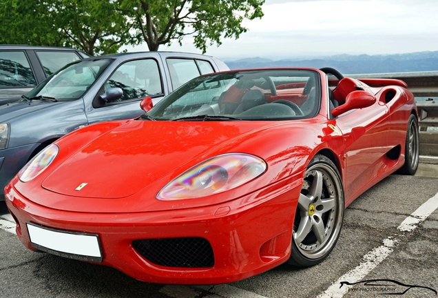
{"type": "Polygon", "coordinates": [[[135,44],[133,24],[107,0],[1,0],[0,43],[72,46],[88,54],[135,44]]]}

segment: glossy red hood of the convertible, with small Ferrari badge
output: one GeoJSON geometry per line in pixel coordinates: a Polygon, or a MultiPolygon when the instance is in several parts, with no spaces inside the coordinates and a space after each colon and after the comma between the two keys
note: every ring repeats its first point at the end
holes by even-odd
{"type": "MultiPolygon", "coordinates": [[[[128,197],[169,173],[175,177],[209,157],[232,150],[242,136],[268,126],[268,122],[234,123],[129,121],[67,157],[42,186],[74,197],[128,197]],[[83,183],[86,185],[77,190],[83,183]]],[[[62,150],[61,146],[60,154],[62,150]]],[[[159,187],[155,191],[168,179],[156,183],[159,187]]]]}

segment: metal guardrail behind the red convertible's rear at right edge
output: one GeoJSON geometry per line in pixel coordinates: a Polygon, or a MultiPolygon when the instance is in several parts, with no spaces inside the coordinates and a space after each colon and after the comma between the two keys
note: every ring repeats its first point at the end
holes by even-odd
{"type": "MultiPolygon", "coordinates": [[[[401,79],[415,97],[438,97],[438,71],[352,74],[348,77],[401,79]]],[[[438,101],[417,100],[420,125],[420,154],[438,156],[438,101]]]]}

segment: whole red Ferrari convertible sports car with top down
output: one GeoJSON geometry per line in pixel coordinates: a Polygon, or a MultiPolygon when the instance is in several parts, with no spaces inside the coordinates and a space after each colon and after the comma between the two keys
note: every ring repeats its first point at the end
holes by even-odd
{"type": "Polygon", "coordinates": [[[141,106],[139,119],[62,137],[6,186],[26,247],[167,284],[313,266],[348,204],[418,166],[417,109],[399,80],[235,70],[141,106]]]}

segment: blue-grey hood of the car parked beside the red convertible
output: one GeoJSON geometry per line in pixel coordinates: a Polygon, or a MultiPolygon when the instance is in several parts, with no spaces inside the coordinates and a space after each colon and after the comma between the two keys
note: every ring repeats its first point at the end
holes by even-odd
{"type": "Polygon", "coordinates": [[[20,101],[16,103],[8,103],[0,106],[0,122],[3,123],[10,121],[10,119],[15,119],[38,110],[43,110],[54,104],[61,103],[53,103],[50,101],[20,101]]]}

